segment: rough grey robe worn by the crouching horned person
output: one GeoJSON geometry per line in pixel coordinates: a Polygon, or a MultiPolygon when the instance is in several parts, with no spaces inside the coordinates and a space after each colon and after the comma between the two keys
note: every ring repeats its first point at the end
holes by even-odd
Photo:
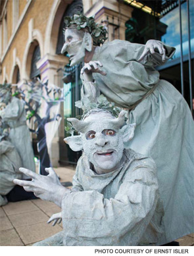
{"type": "Polygon", "coordinates": [[[35,245],[155,245],[163,232],[155,163],[131,149],[124,157],[98,175],[82,155],[62,199],[64,232],[35,245]]]}

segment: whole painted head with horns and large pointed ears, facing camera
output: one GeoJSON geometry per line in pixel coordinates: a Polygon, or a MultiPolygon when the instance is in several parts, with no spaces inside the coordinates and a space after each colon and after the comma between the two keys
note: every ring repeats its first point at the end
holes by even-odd
{"type": "Polygon", "coordinates": [[[114,118],[105,111],[93,112],[84,121],[68,119],[80,136],[71,136],[64,141],[72,150],[84,149],[85,155],[98,174],[119,168],[124,151],[124,143],[133,137],[135,125],[123,126],[124,113],[114,118]],[[121,128],[122,127],[122,128],[121,128]]]}

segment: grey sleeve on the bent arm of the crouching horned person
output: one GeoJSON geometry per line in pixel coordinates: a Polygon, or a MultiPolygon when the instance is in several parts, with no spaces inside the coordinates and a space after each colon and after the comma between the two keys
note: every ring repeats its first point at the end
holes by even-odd
{"type": "Polygon", "coordinates": [[[139,166],[114,198],[95,190],[64,195],[64,245],[137,245],[155,212],[157,189],[156,172],[139,166]]]}

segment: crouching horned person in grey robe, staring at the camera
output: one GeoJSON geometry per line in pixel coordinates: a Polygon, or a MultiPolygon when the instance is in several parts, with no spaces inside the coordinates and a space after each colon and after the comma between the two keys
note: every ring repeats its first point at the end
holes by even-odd
{"type": "MultiPolygon", "coordinates": [[[[156,245],[162,235],[162,202],[153,159],[126,149],[135,124],[125,112],[92,109],[82,120],[68,118],[78,136],[64,141],[83,150],[72,190],[64,188],[52,168],[48,176],[21,168],[32,181],[14,180],[41,199],[61,207],[51,217],[62,218],[64,231],[35,245],[156,245]]],[[[51,221],[50,220],[50,221],[51,221]]]]}

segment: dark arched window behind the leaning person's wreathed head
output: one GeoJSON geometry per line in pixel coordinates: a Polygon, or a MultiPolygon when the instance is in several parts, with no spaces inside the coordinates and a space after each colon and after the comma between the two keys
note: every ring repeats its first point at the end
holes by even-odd
{"type": "Polygon", "coordinates": [[[65,16],[73,16],[77,13],[83,13],[83,3],[82,0],[74,0],[70,5],[68,5],[67,9],[64,11],[64,14],[61,19],[61,24],[59,27],[59,35],[57,41],[57,49],[56,53],[61,54],[62,45],[64,44],[64,17],[65,16]]]}

